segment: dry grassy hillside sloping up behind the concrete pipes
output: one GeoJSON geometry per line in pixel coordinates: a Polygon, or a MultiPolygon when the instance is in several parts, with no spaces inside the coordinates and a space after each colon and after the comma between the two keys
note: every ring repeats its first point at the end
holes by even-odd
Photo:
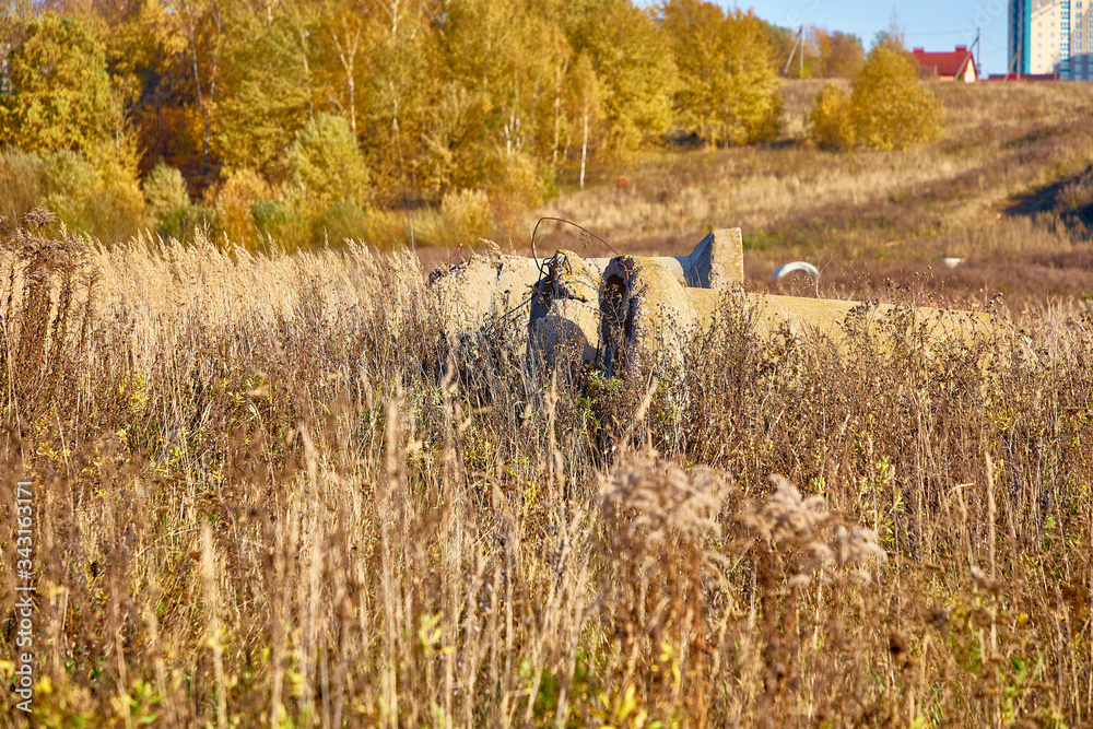
{"type": "MultiPolygon", "coordinates": [[[[822,83],[784,87],[778,143],[673,149],[592,167],[583,192],[567,169],[563,193],[541,214],[646,255],[679,255],[706,231],[740,226],[755,290],[768,287],[777,266],[803,259],[823,269],[827,295],[884,297],[910,286],[963,305],[1000,293],[1018,307],[1093,296],[1084,227],[1093,220],[1093,85],[935,83],[945,111],[939,141],[842,154],[804,140],[822,83]],[[965,260],[950,271],[941,257],[965,260]]],[[[543,248],[561,246],[581,244],[564,232],[543,248]]],[[[799,283],[802,293],[812,286],[799,283]]]]}

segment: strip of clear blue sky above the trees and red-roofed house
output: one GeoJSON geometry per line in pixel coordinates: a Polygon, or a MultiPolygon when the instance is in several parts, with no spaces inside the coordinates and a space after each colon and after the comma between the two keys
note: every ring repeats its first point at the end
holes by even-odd
{"type": "Polygon", "coordinates": [[[979,58],[986,73],[1002,73],[1007,66],[1007,0],[717,0],[727,8],[749,8],[765,21],[797,27],[820,25],[831,31],[853,33],[868,51],[878,31],[891,25],[895,12],[907,47],[952,50],[972,45],[976,26],[983,27],[979,58]]]}

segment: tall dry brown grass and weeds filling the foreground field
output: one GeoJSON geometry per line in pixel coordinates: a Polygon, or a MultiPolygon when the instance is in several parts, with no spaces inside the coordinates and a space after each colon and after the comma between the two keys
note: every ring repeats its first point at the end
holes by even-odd
{"type": "Polygon", "coordinates": [[[623,383],[446,338],[412,258],[44,222],[0,260],[35,726],[1090,719],[1089,309],[986,378],[726,311],[623,383]]]}

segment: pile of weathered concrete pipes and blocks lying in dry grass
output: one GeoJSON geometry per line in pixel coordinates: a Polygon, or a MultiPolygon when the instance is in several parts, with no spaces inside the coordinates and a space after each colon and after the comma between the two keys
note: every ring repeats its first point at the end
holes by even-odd
{"type": "Polygon", "coordinates": [[[761,337],[826,338],[847,360],[862,334],[893,352],[914,339],[932,356],[1004,329],[978,313],[744,293],[739,228],[716,231],[680,258],[477,257],[431,284],[451,334],[515,332],[513,345],[532,360],[596,361],[609,376],[681,365],[689,342],[728,317],[743,316],[761,337]]]}

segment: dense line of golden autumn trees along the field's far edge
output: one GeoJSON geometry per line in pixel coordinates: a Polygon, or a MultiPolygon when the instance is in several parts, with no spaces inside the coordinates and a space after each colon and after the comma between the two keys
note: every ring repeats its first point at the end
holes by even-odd
{"type": "MultiPolygon", "coordinates": [[[[0,192],[107,238],[305,243],[420,205],[481,227],[563,165],[772,139],[787,37],[703,0],[7,1],[0,192]]],[[[850,72],[855,40],[813,32],[809,72],[850,72]]]]}

